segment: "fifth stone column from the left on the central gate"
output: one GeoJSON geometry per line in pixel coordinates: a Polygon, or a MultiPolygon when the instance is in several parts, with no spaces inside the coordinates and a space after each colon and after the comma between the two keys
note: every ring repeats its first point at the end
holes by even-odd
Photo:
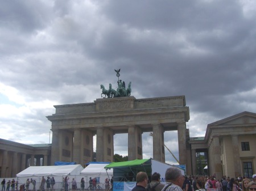
{"type": "Polygon", "coordinates": [[[153,158],[165,162],[163,127],[160,124],[153,124],[153,158]]]}

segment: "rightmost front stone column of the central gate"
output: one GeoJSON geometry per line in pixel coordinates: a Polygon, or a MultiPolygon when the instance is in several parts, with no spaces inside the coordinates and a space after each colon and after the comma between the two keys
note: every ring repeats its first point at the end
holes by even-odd
{"type": "Polygon", "coordinates": [[[186,123],[180,122],[177,125],[177,134],[179,142],[179,162],[187,164],[187,149],[186,149],[186,123]]]}

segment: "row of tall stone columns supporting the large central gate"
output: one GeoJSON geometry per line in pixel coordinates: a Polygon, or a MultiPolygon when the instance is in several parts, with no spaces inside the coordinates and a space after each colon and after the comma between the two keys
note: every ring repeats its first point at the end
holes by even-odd
{"type": "MultiPolygon", "coordinates": [[[[117,128],[96,127],[93,130],[86,128],[74,128],[73,130],[52,130],[51,165],[55,161],[76,162],[84,165],[93,160],[93,136],[97,135],[96,160],[98,162],[113,162],[114,134],[127,133],[128,160],[142,159],[142,133],[152,132],[153,158],[165,162],[164,153],[164,126],[150,124],[146,127],[138,125],[122,126],[117,128]]],[[[180,164],[187,164],[186,126],[185,122],[177,124],[177,136],[179,140],[180,164]]],[[[124,140],[125,141],[125,140],[124,140]]]]}

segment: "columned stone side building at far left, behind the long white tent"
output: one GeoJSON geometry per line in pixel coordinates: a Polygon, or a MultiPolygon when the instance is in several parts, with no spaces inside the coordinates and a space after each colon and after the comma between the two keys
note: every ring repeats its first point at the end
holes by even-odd
{"type": "Polygon", "coordinates": [[[34,165],[49,165],[51,144],[24,145],[0,139],[1,177],[16,177],[16,174],[34,165]]]}

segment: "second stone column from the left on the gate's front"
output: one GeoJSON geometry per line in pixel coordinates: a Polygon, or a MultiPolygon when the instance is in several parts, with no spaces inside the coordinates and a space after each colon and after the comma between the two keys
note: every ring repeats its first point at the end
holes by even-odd
{"type": "Polygon", "coordinates": [[[73,162],[81,164],[81,129],[74,130],[73,162]]]}

